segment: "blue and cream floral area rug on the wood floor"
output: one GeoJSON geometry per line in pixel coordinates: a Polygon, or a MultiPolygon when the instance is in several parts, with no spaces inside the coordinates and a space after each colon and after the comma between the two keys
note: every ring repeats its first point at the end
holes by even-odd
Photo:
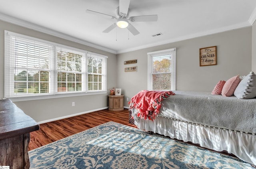
{"type": "Polygon", "coordinates": [[[30,169],[252,169],[235,157],[108,122],[29,151],[30,169]]]}

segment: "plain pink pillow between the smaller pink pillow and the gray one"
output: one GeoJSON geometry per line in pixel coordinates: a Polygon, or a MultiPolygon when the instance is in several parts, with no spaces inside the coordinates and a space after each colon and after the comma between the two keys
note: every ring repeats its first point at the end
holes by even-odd
{"type": "Polygon", "coordinates": [[[236,90],[236,87],[238,86],[239,82],[239,75],[228,79],[222,88],[221,94],[226,97],[234,95],[234,91],[236,90]]]}

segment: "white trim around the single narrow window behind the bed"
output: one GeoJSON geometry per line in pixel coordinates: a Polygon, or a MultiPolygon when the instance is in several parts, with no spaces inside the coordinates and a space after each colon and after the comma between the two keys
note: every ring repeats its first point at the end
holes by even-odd
{"type": "Polygon", "coordinates": [[[152,71],[152,63],[151,63],[151,58],[154,56],[161,56],[163,54],[168,54],[172,52],[174,56],[172,56],[172,62],[171,62],[171,90],[176,90],[176,48],[171,48],[171,49],[165,49],[165,50],[160,50],[160,51],[154,51],[154,52],[148,52],[148,90],[152,90],[151,84],[152,84],[152,76],[151,76],[151,71],[152,71]]]}

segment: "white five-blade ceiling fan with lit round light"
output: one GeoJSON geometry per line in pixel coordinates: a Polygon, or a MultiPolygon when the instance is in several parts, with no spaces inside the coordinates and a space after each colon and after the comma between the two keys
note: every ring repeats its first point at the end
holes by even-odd
{"type": "Polygon", "coordinates": [[[112,29],[116,28],[118,26],[119,28],[127,28],[133,35],[138,35],[140,32],[130,24],[130,22],[156,22],[158,19],[157,15],[144,15],[144,16],[131,16],[128,17],[129,13],[129,5],[130,0],[119,0],[119,6],[116,8],[116,17],[108,15],[108,14],[102,14],[100,12],[95,12],[92,10],[86,10],[89,14],[95,14],[99,16],[104,16],[106,18],[115,19],[116,22],[109,26],[107,29],[105,29],[103,32],[108,33],[112,29]],[[130,22],[129,22],[130,21],[130,22]]]}

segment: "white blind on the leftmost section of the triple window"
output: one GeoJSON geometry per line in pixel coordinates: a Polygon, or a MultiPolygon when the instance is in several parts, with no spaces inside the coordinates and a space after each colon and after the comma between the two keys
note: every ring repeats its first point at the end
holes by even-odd
{"type": "Polygon", "coordinates": [[[5,37],[5,97],[49,94],[52,45],[5,37]]]}

